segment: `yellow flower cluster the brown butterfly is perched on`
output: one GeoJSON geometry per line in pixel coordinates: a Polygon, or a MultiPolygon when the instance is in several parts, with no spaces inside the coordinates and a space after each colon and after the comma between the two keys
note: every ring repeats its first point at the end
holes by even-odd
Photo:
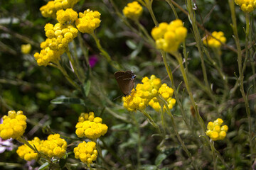
{"type": "Polygon", "coordinates": [[[160,104],[157,96],[161,95],[168,103],[169,108],[173,108],[176,100],[171,98],[174,94],[174,90],[167,84],[161,84],[161,79],[155,75],[151,75],[150,79],[144,77],[142,84],[137,84],[136,90],[132,90],[129,96],[122,98],[123,106],[128,111],[142,111],[147,105],[154,108],[156,111],[160,111],[160,104]]]}

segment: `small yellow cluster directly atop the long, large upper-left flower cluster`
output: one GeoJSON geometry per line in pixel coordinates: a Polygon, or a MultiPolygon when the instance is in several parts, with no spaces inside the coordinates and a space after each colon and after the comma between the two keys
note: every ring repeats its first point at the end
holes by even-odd
{"type": "Polygon", "coordinates": [[[60,9],[59,11],[57,11],[56,15],[56,19],[59,21],[59,23],[73,23],[76,19],[78,19],[78,13],[72,8],[67,8],[65,11],[63,9],[60,9]]]}

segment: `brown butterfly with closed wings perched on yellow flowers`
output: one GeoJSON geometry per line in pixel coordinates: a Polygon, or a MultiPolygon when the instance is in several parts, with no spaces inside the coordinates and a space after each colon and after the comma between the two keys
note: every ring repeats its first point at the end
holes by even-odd
{"type": "Polygon", "coordinates": [[[119,89],[121,89],[124,96],[129,96],[131,94],[132,89],[135,86],[135,78],[136,75],[132,71],[118,71],[114,73],[114,78],[117,80],[117,84],[119,89]]]}

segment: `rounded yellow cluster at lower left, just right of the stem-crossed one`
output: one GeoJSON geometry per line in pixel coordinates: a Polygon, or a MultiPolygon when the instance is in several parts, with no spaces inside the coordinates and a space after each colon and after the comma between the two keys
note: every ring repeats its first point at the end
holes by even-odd
{"type": "Polygon", "coordinates": [[[47,157],[63,157],[67,149],[67,142],[59,134],[49,135],[47,140],[41,142],[40,151],[47,157]]]}

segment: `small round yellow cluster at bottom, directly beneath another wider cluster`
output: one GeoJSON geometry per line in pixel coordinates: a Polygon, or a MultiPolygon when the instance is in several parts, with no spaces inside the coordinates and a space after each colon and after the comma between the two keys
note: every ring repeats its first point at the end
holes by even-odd
{"type": "Polygon", "coordinates": [[[81,162],[92,164],[97,159],[97,149],[95,142],[83,141],[74,148],[75,158],[80,159],[81,162]]]}

